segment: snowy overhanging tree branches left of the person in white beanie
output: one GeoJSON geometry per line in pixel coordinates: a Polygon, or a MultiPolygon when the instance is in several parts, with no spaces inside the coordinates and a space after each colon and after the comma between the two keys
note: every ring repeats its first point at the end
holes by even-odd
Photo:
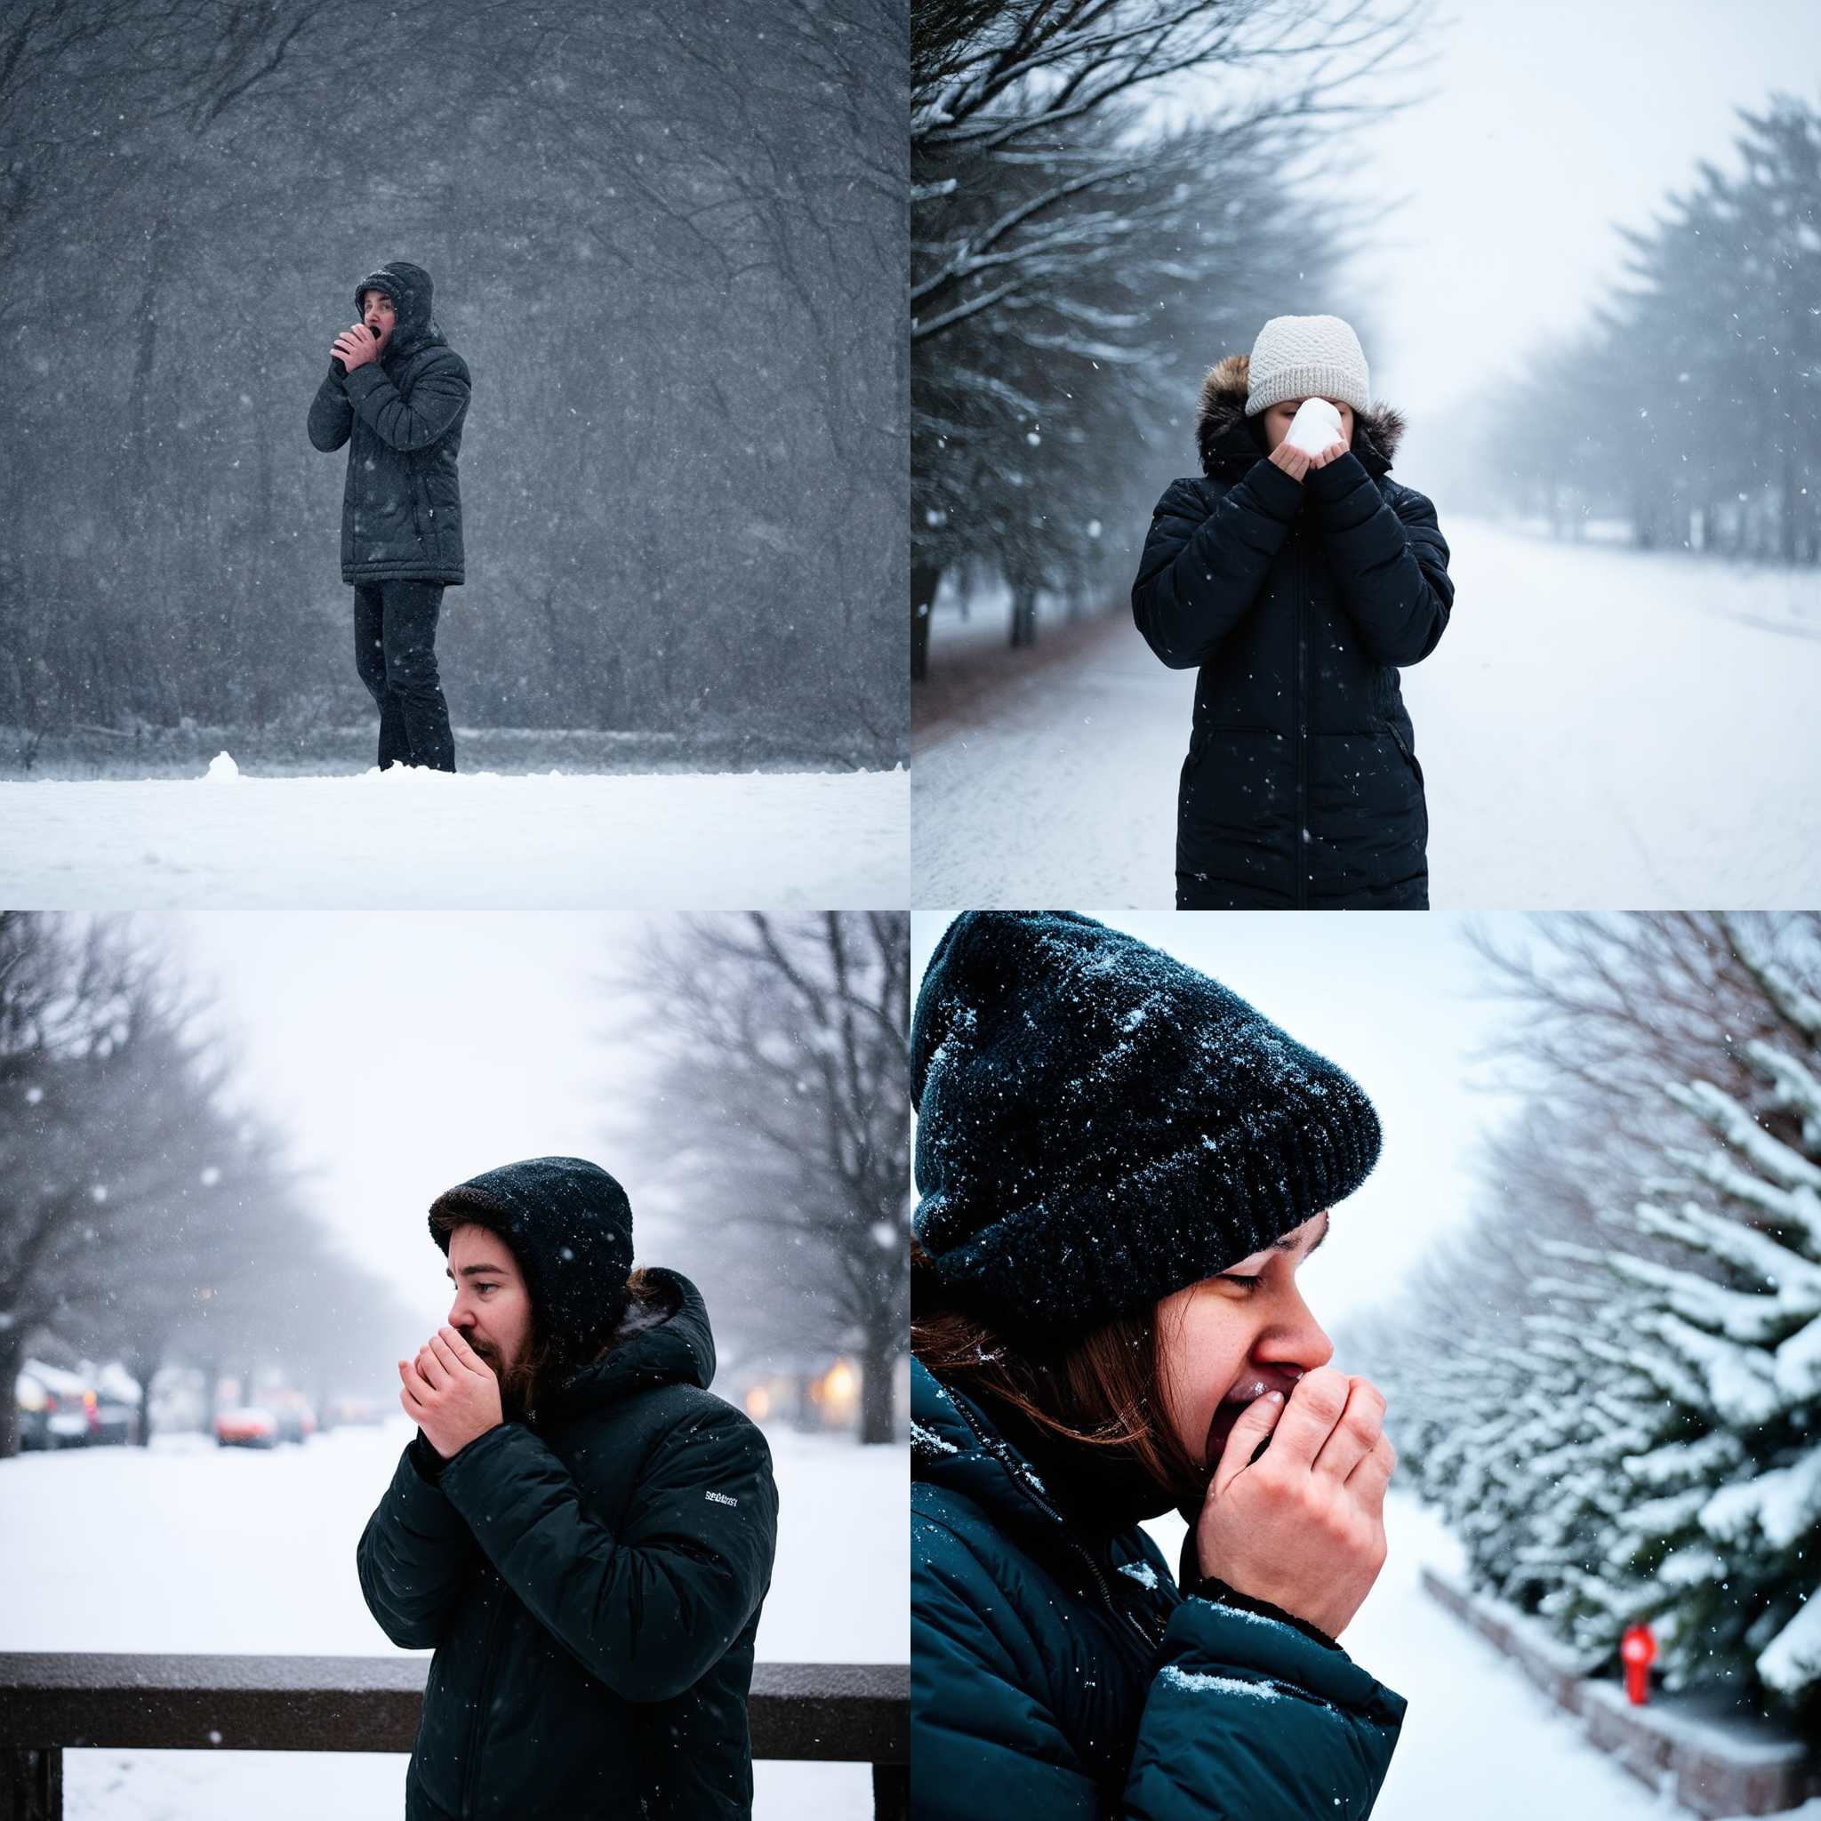
{"type": "Polygon", "coordinates": [[[912,677],[943,575],[1003,583],[1012,643],[1038,590],[1124,597],[1151,506],[1195,472],[1206,370],[1271,315],[1335,310],[1386,213],[1322,177],[1400,106],[1360,89],[1419,22],[1360,0],[920,0],[912,677]]]}

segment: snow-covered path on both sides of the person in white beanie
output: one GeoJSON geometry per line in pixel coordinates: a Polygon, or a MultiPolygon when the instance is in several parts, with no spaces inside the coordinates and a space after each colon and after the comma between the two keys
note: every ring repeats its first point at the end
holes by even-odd
{"type": "MultiPolygon", "coordinates": [[[[1821,901],[1821,574],[1444,528],[1455,614],[1404,672],[1435,909],[1821,901]]],[[[938,619],[932,677],[992,688],[914,699],[916,903],[1175,901],[1195,676],[1125,612],[1060,637],[1009,663],[938,619]]]]}

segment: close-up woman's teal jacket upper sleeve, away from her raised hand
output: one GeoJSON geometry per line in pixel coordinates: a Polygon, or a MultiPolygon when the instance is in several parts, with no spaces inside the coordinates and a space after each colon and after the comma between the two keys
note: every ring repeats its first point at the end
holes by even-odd
{"type": "Polygon", "coordinates": [[[1043,1699],[1051,1664],[987,1564],[910,1515],[910,1812],[1102,1821],[1100,1786],[1043,1699]]]}

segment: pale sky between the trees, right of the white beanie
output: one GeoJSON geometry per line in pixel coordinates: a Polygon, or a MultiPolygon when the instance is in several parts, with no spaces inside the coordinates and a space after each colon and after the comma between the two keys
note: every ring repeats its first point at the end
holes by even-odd
{"type": "Polygon", "coordinates": [[[1399,472],[1429,492],[1440,413],[1519,371],[1623,279],[1613,226],[1648,229],[1701,158],[1732,169],[1739,106],[1759,111],[1779,89],[1816,100],[1821,5],[1457,0],[1417,55],[1433,62],[1395,91],[1428,100],[1355,142],[1358,193],[1409,200],[1362,257],[1351,300],[1286,299],[1280,313],[1355,320],[1371,306],[1371,392],[1409,417],[1399,472]]]}

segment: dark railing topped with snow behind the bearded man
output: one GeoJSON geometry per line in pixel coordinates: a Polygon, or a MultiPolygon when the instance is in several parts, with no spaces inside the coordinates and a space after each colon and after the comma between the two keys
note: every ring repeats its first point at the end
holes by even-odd
{"type": "MultiPolygon", "coordinates": [[[[0,1653],[0,1821],[62,1821],[64,1752],[410,1752],[426,1657],[0,1653]]],[[[872,1765],[872,1812],[910,1814],[910,1668],[759,1663],[754,1757],[872,1765]]]]}

